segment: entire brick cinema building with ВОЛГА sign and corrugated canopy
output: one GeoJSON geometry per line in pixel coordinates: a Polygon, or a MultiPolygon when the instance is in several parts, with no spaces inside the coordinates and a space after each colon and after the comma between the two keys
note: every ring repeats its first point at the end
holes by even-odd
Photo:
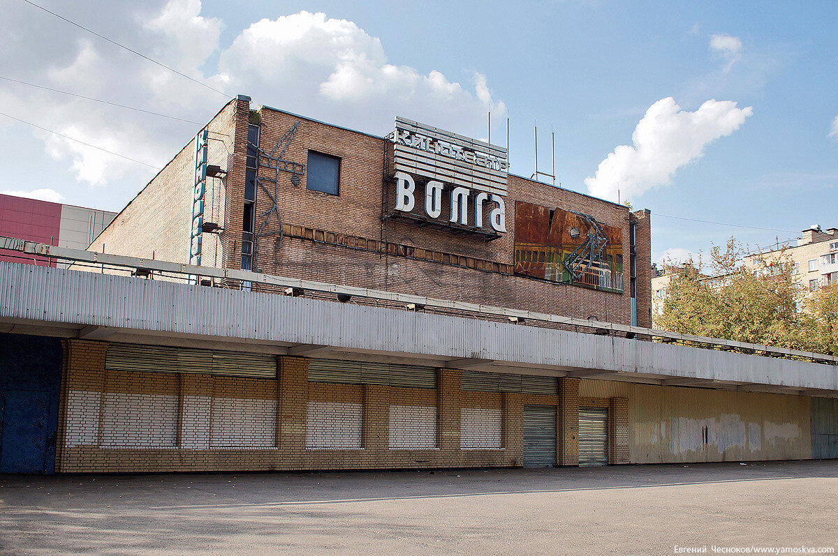
{"type": "Polygon", "coordinates": [[[0,315],[6,353],[52,342],[55,471],[838,456],[834,358],[644,334],[649,211],[388,131],[239,96],[84,255],[50,251],[70,270],[3,267],[8,299],[65,292],[0,315]]]}

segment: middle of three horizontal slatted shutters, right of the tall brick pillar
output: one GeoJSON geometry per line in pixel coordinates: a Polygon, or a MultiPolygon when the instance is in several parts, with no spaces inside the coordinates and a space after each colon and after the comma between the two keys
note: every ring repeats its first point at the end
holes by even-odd
{"type": "Polygon", "coordinates": [[[437,388],[437,369],[418,365],[312,359],[308,382],[342,384],[384,384],[399,388],[437,388]]]}

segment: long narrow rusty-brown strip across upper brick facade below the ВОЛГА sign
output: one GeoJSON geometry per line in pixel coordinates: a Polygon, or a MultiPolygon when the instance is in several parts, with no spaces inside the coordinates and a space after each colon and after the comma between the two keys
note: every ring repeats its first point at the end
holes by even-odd
{"type": "Polygon", "coordinates": [[[462,266],[463,268],[483,270],[484,272],[510,275],[515,270],[514,265],[505,265],[494,260],[475,259],[464,255],[432,251],[377,239],[366,239],[356,235],[339,234],[324,229],[305,228],[293,224],[282,224],[282,234],[290,238],[308,239],[315,243],[340,245],[349,249],[386,253],[387,255],[406,257],[407,259],[430,260],[442,265],[462,266]]]}

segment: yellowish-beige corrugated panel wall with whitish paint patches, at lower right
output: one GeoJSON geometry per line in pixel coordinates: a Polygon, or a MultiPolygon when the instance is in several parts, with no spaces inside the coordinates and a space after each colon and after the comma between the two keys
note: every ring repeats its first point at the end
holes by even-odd
{"type": "Polygon", "coordinates": [[[810,398],[632,384],[632,463],[812,457],[810,398]]]}

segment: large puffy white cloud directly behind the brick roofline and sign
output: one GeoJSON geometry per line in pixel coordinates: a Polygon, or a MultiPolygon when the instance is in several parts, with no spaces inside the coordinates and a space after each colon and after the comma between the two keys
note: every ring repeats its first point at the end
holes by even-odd
{"type": "Polygon", "coordinates": [[[382,135],[401,115],[477,136],[487,111],[506,112],[483,75],[468,88],[437,70],[391,64],[380,39],[324,13],[252,23],[222,51],[219,69],[255,102],[382,135]]]}

